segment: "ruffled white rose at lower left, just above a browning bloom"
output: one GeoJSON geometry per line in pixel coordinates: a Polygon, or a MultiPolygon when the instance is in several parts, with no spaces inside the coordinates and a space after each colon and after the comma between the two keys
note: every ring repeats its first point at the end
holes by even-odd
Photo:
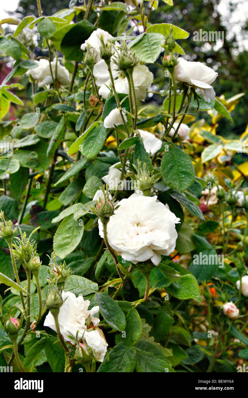
{"type": "MultiPolygon", "coordinates": [[[[74,343],[74,340],[68,337],[68,334],[72,334],[72,336],[76,338],[78,331],[77,339],[80,340],[86,330],[85,322],[89,315],[91,316],[91,322],[93,322],[94,326],[99,324],[100,320],[93,316],[99,311],[99,306],[95,306],[91,310],[88,310],[90,301],[83,300],[82,296],[76,297],[73,293],[65,291],[62,291],[61,296],[63,304],[58,314],[60,333],[65,341],[74,343]]],[[[50,311],[46,316],[44,326],[48,326],[56,332],[54,317],[50,311]]]]}

